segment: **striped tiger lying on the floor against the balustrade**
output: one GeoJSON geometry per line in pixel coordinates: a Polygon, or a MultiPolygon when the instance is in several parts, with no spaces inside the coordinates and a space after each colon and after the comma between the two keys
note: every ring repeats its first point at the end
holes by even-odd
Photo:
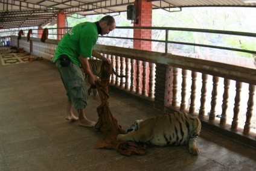
{"type": "Polygon", "coordinates": [[[136,120],[127,134],[118,134],[118,141],[135,141],[155,146],[188,145],[190,154],[199,155],[197,138],[201,122],[185,112],[174,112],[136,120]]]}

